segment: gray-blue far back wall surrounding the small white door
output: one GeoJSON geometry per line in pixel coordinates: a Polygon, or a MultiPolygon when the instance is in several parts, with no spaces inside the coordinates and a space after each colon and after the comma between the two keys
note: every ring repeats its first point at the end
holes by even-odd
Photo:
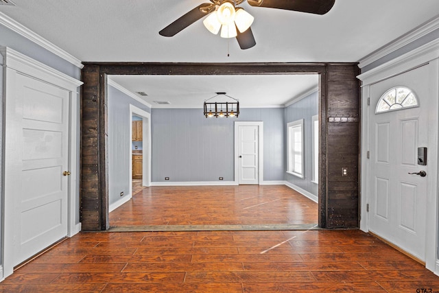
{"type": "Polygon", "coordinates": [[[202,109],[152,109],[152,182],[235,180],[234,121],[263,121],[264,181],[283,180],[283,108],[241,108],[206,119],[202,109]]]}

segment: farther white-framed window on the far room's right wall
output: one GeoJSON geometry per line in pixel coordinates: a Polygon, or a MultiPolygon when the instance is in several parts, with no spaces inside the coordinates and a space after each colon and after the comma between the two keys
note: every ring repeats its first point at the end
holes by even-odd
{"type": "Polygon", "coordinates": [[[303,178],[303,119],[287,124],[287,173],[303,178]]]}

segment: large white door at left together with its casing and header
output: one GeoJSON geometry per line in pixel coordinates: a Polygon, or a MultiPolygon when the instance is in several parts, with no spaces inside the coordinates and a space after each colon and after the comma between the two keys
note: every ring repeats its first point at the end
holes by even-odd
{"type": "Polygon", "coordinates": [[[80,231],[77,222],[78,86],[82,82],[18,52],[4,57],[3,276],[80,231]],[[63,176],[63,172],[71,176],[63,176]]]}

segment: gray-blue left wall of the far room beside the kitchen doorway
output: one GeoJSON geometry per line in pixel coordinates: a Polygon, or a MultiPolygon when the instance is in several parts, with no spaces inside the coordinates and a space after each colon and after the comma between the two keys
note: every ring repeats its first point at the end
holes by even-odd
{"type": "Polygon", "coordinates": [[[108,200],[112,204],[130,191],[130,104],[150,113],[150,108],[108,86],[108,200]]]}

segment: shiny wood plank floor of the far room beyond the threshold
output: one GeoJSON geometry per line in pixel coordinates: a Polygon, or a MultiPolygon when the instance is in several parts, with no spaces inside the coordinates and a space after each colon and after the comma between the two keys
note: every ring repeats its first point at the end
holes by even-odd
{"type": "Polygon", "coordinates": [[[318,204],[285,185],[140,187],[110,226],[317,224],[318,204]]]}

